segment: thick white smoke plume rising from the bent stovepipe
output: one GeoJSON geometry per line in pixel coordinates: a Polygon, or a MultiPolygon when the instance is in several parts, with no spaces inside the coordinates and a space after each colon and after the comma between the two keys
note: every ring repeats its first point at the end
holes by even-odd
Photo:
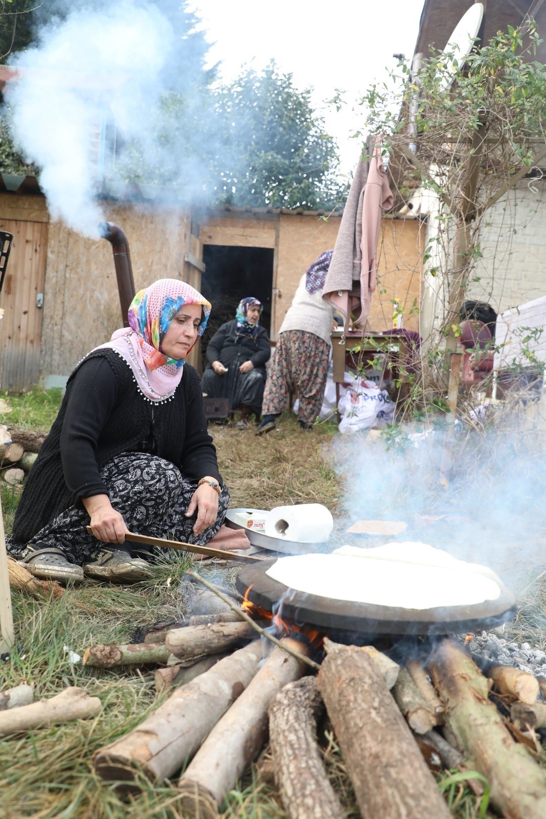
{"type": "Polygon", "coordinates": [[[158,7],[122,0],[50,21],[36,45],[11,59],[19,71],[5,94],[13,137],[41,168],[54,219],[97,236],[103,217],[94,194],[108,122],[115,119],[125,143],[138,138],[149,147],[162,95],[191,82],[180,72],[180,48],[158,7]]]}

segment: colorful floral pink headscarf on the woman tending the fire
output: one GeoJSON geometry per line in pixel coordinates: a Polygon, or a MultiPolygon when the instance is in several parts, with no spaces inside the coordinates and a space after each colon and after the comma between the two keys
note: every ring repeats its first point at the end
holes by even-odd
{"type": "MultiPolygon", "coordinates": [[[[129,327],[116,330],[102,344],[118,352],[133,370],[142,394],[151,401],[167,400],[180,383],[185,359],[171,359],[161,352],[161,342],[183,305],[202,305],[197,330],[202,336],[210,315],[210,302],[194,287],[176,278],[160,278],[141,290],[129,305],[129,327]]],[[[189,352],[189,350],[188,350],[189,352]]]]}

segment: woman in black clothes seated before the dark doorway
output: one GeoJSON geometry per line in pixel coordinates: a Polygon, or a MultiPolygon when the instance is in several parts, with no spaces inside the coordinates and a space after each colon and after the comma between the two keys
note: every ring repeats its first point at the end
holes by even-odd
{"type": "Polygon", "coordinates": [[[254,296],[242,299],[236,318],[222,324],[206,348],[209,363],[201,378],[202,390],[211,398],[228,398],[230,411],[241,409],[239,429],[248,426],[252,413],[259,418],[264,397],[271,347],[267,330],[259,326],[263,309],[254,296]]]}

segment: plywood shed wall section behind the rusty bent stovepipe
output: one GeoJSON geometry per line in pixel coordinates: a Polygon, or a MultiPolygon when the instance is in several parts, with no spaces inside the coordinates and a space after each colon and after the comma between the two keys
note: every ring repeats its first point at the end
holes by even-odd
{"type": "MultiPolygon", "coordinates": [[[[156,278],[183,278],[189,247],[187,210],[106,206],[105,219],[120,224],[129,240],[138,290],[156,278]]],[[[61,222],[49,225],[43,307],[42,375],[68,375],[93,346],[121,327],[112,247],[61,222]]]]}

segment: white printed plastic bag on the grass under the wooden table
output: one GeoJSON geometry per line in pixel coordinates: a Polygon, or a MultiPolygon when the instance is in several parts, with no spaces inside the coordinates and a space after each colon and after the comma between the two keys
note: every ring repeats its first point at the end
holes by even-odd
{"type": "Polygon", "coordinates": [[[395,414],[395,405],[386,390],[363,378],[354,378],[350,388],[341,396],[340,432],[361,432],[372,427],[385,428],[395,414]]]}

